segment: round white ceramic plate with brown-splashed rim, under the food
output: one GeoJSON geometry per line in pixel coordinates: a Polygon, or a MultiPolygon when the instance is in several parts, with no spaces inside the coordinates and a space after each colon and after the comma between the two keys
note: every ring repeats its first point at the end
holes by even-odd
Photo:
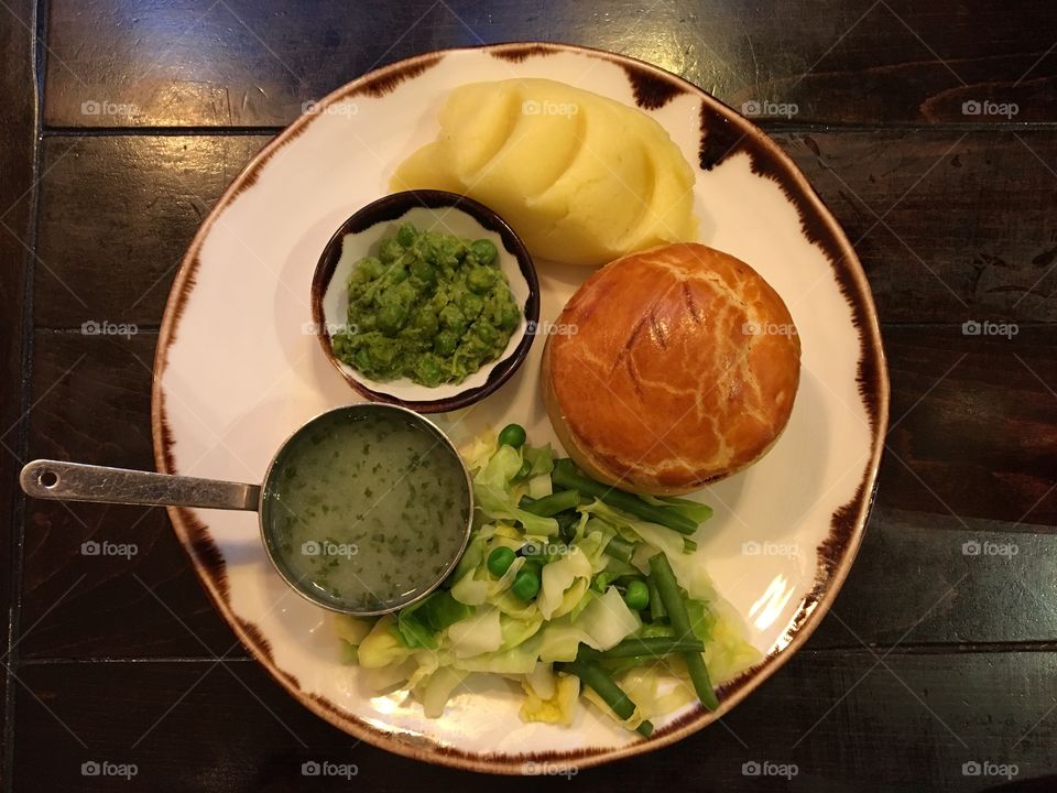
{"type": "MultiPolygon", "coordinates": [[[[290,593],[249,513],[173,509],[177,535],[217,608],[306,707],[391,751],[482,771],[590,765],[664,746],[743,699],[804,642],[862,537],[889,389],[873,302],[858,259],[803,175],[759,129],[694,86],[609,53],[509,44],[423,55],[351,83],[299,118],[235,181],[195,237],[159,340],[153,433],[159,470],[260,481],[280,442],[320,411],[356,401],[310,326],[319,252],[395,165],[437,131],[456,86],[547,77],[640,107],[696,165],[701,241],[752,264],[783,296],[803,343],[788,428],[749,470],[700,497],[716,517],[698,551],[743,617],[759,665],[721,689],[717,714],[687,707],[649,739],[592,708],[571,728],[523,724],[502,681],[472,677],[431,720],[400,693],[375,697],[338,663],[326,612],[290,593]],[[526,763],[535,763],[528,765],[526,763]]],[[[588,270],[537,261],[541,321],[588,270]]],[[[538,394],[543,345],[477,406],[440,416],[456,442],[509,421],[555,442],[538,394]]]]}

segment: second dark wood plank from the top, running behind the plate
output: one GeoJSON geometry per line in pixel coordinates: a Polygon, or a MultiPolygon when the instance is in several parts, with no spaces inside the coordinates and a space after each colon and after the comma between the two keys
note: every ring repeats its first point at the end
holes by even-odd
{"type": "MultiPolygon", "coordinates": [[[[1057,131],[776,139],[857,243],[885,322],[1057,319],[1057,131]]],[[[47,138],[37,325],[156,324],[198,224],[266,140],[47,138]]]]}

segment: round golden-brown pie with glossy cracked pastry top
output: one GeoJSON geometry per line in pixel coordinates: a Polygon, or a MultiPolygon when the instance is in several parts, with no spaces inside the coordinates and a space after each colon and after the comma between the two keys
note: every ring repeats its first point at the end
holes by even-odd
{"type": "Polygon", "coordinates": [[[800,343],[778,294],[701,245],[618,259],[566,305],[544,356],[552,422],[589,472],[686,492],[762,455],[788,421],[800,343]],[[557,414],[557,415],[556,415],[557,414]]]}

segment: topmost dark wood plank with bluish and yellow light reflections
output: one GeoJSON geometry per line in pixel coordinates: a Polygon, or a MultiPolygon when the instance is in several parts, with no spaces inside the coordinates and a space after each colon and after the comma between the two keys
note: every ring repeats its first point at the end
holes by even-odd
{"type": "Polygon", "coordinates": [[[979,122],[967,101],[1057,120],[1057,11],[972,0],[740,7],[720,0],[608,6],[324,0],[50,3],[46,122],[59,127],[284,124],[364,72],[431,50],[565,41],[650,61],[734,107],[795,105],[797,121],[979,122]],[[981,31],[987,31],[981,35],[981,31]]]}

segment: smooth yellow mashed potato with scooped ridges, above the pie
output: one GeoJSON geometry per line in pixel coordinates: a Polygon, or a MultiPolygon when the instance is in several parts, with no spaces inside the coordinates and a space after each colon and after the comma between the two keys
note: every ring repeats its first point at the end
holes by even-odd
{"type": "Polygon", "coordinates": [[[510,222],[534,256],[575,264],[697,232],[694,172],[664,128],[546,79],[456,88],[439,138],[405,160],[391,186],[468,195],[510,222]]]}

